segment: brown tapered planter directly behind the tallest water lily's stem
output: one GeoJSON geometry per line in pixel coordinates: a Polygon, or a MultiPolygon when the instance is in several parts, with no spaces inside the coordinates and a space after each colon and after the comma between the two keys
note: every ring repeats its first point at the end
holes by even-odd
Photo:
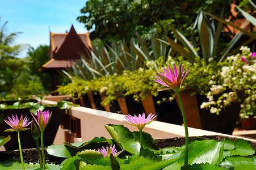
{"type": "MultiPolygon", "coordinates": [[[[189,91],[181,92],[180,96],[186,114],[188,127],[202,129],[198,100],[196,100],[196,96],[191,96],[189,91]]],[[[175,100],[179,103],[177,96],[175,97],[175,100]]]]}

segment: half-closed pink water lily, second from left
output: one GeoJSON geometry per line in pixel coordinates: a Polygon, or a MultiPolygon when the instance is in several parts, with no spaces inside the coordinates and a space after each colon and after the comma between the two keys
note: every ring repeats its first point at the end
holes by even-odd
{"type": "MultiPolygon", "coordinates": [[[[31,113],[31,112],[30,112],[31,113]]],[[[31,113],[33,116],[33,113],[31,113]]],[[[50,114],[49,111],[36,111],[37,119],[33,116],[34,120],[36,121],[36,124],[39,126],[39,129],[41,131],[44,131],[47,124],[49,123],[52,113],[50,114]]]]}

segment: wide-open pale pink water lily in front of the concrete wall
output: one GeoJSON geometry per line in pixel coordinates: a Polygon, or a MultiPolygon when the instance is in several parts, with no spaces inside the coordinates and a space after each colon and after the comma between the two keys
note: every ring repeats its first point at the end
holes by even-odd
{"type": "Polygon", "coordinates": [[[150,122],[152,122],[156,117],[157,115],[152,113],[150,113],[147,118],[145,116],[145,113],[143,113],[142,116],[141,114],[139,114],[138,117],[136,115],[131,116],[129,114],[128,116],[124,117],[127,119],[127,121],[124,120],[124,122],[130,125],[135,125],[139,130],[142,130],[145,127],[145,125],[150,124],[150,122]]]}

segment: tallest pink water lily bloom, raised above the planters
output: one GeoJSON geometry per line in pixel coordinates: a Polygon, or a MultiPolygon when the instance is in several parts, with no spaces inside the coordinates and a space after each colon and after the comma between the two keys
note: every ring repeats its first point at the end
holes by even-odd
{"type": "Polygon", "coordinates": [[[168,88],[163,88],[161,90],[158,91],[163,91],[163,90],[169,90],[169,89],[173,89],[174,91],[179,91],[179,88],[181,87],[181,83],[183,82],[184,78],[186,77],[188,71],[190,69],[187,70],[187,73],[185,73],[185,70],[183,70],[183,66],[182,68],[180,68],[180,65],[177,68],[175,67],[175,64],[173,65],[173,70],[171,70],[170,66],[168,66],[168,70],[163,69],[163,71],[165,71],[165,74],[161,73],[156,73],[156,77],[158,79],[154,80],[157,83],[162,84],[163,86],[166,86],[168,88]]]}

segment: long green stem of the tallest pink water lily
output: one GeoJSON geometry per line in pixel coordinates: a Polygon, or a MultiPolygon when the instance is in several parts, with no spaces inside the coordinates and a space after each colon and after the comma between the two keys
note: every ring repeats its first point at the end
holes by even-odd
{"type": "Polygon", "coordinates": [[[184,128],[185,128],[185,160],[184,160],[184,169],[187,169],[187,164],[188,164],[188,130],[187,130],[187,119],[186,119],[186,115],[184,112],[184,108],[183,108],[183,104],[181,101],[181,96],[179,95],[179,91],[175,91],[178,97],[178,101],[179,101],[179,106],[181,107],[181,113],[182,113],[182,117],[183,117],[183,123],[184,123],[184,128]]]}

